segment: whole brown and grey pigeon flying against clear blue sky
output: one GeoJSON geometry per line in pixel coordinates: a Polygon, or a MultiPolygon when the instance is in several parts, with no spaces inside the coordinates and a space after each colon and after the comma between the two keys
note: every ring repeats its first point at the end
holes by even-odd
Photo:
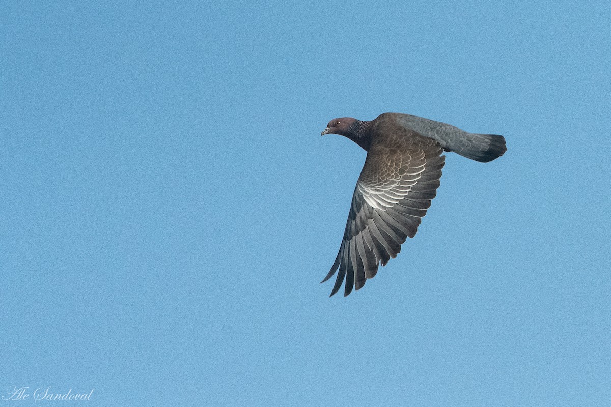
{"type": "Polygon", "coordinates": [[[403,113],[383,113],[371,121],[340,117],[321,133],[339,134],[367,151],[354,189],[342,244],[324,283],[337,272],[334,295],[359,290],[368,278],[397,257],[406,238],[414,237],[420,220],[437,194],[444,151],[479,162],[505,153],[505,138],[475,134],[450,124],[403,113]]]}

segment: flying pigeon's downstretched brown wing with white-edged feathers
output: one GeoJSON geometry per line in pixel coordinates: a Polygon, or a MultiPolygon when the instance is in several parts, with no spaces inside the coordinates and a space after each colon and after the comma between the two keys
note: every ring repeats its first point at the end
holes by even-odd
{"type": "Polygon", "coordinates": [[[442,146],[435,140],[417,135],[406,149],[372,146],[354,189],[342,245],[327,281],[338,270],[334,295],[346,285],[344,295],[353,287],[360,289],[382,265],[395,258],[401,243],[414,237],[426,209],[437,193],[442,146]]]}

